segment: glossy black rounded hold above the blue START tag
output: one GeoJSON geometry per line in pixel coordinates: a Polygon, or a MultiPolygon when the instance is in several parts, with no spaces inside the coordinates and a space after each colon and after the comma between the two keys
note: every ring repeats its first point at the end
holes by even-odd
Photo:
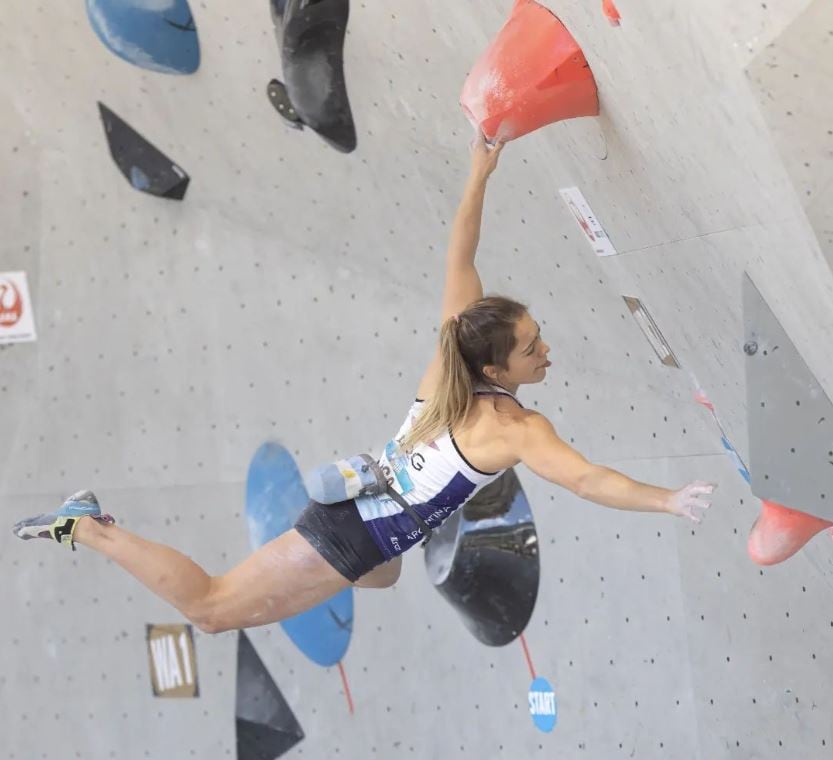
{"type": "Polygon", "coordinates": [[[504,646],[526,628],[538,597],[538,535],[514,470],[436,529],[424,556],[431,582],[479,641],[504,646]]]}

